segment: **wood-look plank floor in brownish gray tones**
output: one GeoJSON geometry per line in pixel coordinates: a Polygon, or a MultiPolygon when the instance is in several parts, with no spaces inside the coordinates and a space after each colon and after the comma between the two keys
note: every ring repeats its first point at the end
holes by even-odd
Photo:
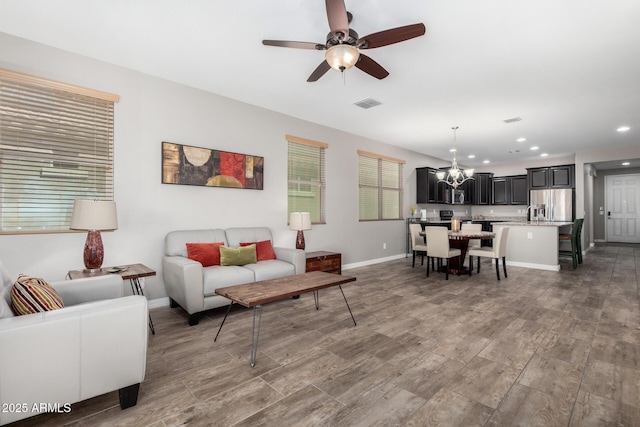
{"type": "MultiPolygon", "coordinates": [[[[419,263],[418,263],[419,264],[419,263]]],[[[152,310],[137,406],[117,392],[15,426],[638,426],[640,249],[596,247],[571,270],[425,278],[401,259],[338,289],[251,311],[152,310]]],[[[61,379],[64,380],[64,379],[61,379]]]]}

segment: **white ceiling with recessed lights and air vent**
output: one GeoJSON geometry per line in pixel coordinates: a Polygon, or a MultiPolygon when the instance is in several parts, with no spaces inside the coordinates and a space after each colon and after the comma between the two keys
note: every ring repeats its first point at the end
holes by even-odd
{"type": "Polygon", "coordinates": [[[322,0],[2,0],[0,31],[438,158],[451,158],[457,125],[467,167],[640,144],[638,0],[346,8],[360,36],[418,22],[427,33],[366,51],[384,80],[354,68],[344,82],[330,70],[307,83],[324,52],[261,40],[324,43],[322,0]],[[382,105],[353,105],[364,98],[382,105]],[[522,121],[504,123],[513,117],[522,121]]]}

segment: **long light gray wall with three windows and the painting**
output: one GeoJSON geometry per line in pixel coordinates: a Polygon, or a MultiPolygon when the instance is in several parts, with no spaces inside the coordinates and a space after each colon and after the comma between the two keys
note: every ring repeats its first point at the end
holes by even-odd
{"type": "MultiPolygon", "coordinates": [[[[155,269],[158,276],[147,279],[150,299],[166,295],[161,259],[170,230],[262,225],[273,230],[276,245],[295,246],[295,232],[287,228],[286,134],[329,144],[327,224],[305,232],[307,250],[340,251],[352,266],[404,256],[403,221],[358,221],[357,150],[406,161],[406,215],[415,203],[416,166],[437,160],[3,33],[0,52],[2,68],[120,95],[114,138],[119,229],[103,233],[104,265],[141,262],[155,269]],[[162,141],[264,156],[264,190],[161,184],[162,141]]],[[[13,277],[63,279],[83,268],[85,238],[0,235],[0,260],[13,277]]]]}

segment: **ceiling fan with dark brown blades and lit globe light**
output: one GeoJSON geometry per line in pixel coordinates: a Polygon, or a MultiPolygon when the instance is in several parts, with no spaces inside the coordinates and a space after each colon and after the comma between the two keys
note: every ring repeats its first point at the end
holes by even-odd
{"type": "Polygon", "coordinates": [[[307,79],[308,82],[317,81],[331,68],[344,72],[354,65],[377,79],[384,79],[389,75],[389,72],[367,55],[360,53],[360,51],[420,37],[426,32],[424,24],[420,23],[391,28],[369,34],[365,37],[359,37],[358,33],[349,28],[352,15],[347,12],[344,0],[325,0],[325,3],[329,28],[331,29],[331,32],[327,35],[327,42],[325,44],[285,40],[262,40],[262,44],[266,46],[326,51],[326,59],[311,73],[307,79]]]}

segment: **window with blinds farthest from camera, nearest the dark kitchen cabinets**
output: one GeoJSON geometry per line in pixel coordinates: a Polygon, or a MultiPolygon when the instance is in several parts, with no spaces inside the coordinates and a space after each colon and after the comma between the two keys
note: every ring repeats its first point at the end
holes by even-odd
{"type": "Polygon", "coordinates": [[[360,221],[402,219],[404,161],[358,151],[360,221]]]}

